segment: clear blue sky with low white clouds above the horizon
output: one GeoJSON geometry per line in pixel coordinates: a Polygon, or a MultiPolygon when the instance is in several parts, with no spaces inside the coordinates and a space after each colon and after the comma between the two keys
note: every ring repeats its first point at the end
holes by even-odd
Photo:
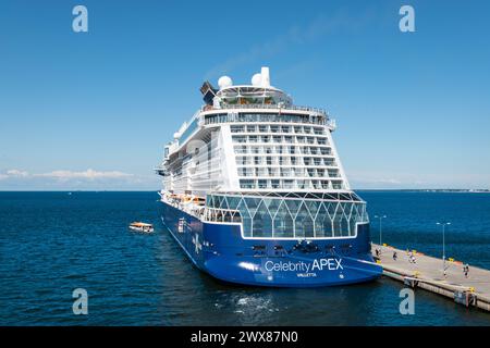
{"type": "Polygon", "coordinates": [[[354,188],[490,187],[488,1],[0,2],[0,190],[159,189],[204,79],[322,107],[354,188]],[[72,9],[88,9],[88,33],[72,9]],[[415,9],[415,33],[399,10],[415,9]]]}

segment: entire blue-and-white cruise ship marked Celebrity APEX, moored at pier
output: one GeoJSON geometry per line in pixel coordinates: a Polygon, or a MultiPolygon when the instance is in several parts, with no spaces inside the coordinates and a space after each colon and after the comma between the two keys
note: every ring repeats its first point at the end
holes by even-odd
{"type": "Polygon", "coordinates": [[[199,270],[230,283],[318,287],[381,275],[366,202],[351,188],[334,121],[270,84],[205,82],[203,107],[164,147],[161,220],[199,270]]]}

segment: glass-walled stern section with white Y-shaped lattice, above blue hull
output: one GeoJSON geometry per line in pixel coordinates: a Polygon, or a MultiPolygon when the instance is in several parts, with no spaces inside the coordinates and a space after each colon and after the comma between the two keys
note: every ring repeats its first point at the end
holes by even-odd
{"type": "Polygon", "coordinates": [[[205,220],[242,223],[244,237],[339,238],[368,223],[366,203],[354,192],[210,194],[205,220]]]}

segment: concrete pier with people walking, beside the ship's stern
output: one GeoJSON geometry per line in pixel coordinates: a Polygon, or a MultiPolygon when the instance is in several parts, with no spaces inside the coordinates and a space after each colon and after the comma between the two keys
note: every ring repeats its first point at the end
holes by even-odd
{"type": "Polygon", "coordinates": [[[490,311],[490,271],[469,264],[468,276],[463,272],[465,263],[449,258],[445,261],[445,276],[442,259],[428,257],[417,250],[409,250],[415,263],[409,261],[409,252],[391,246],[372,244],[372,256],[383,268],[383,274],[403,282],[411,287],[419,287],[453,299],[466,307],[477,307],[490,311]],[[380,250],[377,257],[376,249],[380,250]],[[396,260],[393,259],[396,252],[396,260]]]}

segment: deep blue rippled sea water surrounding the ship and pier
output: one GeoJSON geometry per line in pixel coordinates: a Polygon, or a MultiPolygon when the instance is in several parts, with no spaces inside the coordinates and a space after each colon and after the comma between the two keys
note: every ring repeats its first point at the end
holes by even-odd
{"type": "MultiPolygon", "coordinates": [[[[490,269],[490,195],[359,191],[382,241],[490,269]]],[[[314,289],[234,286],[196,270],[160,223],[156,192],[0,192],[0,325],[490,325],[490,314],[402,284],[314,289]],[[127,229],[132,221],[152,235],[127,229]],[[72,291],[88,291],[74,315],[72,291]]],[[[490,279],[489,279],[490,281],[490,279]]]]}

